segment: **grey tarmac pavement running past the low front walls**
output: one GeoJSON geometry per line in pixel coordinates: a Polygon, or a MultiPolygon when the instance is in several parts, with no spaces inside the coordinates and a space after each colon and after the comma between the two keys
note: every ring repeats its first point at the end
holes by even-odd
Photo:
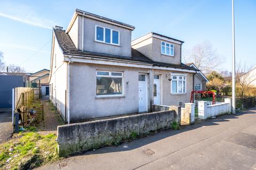
{"type": "Polygon", "coordinates": [[[162,131],[39,169],[256,169],[256,111],[162,131]]]}

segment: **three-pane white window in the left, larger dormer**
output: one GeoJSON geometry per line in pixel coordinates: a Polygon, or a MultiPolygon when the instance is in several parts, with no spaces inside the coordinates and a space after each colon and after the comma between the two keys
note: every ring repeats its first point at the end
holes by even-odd
{"type": "Polygon", "coordinates": [[[101,27],[99,25],[95,26],[95,41],[111,45],[119,45],[119,37],[118,30],[101,27]]]}

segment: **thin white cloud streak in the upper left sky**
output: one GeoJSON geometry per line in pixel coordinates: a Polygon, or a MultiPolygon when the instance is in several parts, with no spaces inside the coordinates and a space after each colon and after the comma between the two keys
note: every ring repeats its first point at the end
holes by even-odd
{"type": "Polygon", "coordinates": [[[39,16],[33,7],[24,4],[2,2],[0,16],[46,29],[52,29],[55,25],[54,21],[39,16]]]}

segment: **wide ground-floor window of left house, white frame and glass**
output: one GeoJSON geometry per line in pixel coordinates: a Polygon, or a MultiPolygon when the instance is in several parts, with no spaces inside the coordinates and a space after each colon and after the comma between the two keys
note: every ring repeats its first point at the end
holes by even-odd
{"type": "Polygon", "coordinates": [[[123,72],[97,71],[97,97],[123,96],[123,72]]]}

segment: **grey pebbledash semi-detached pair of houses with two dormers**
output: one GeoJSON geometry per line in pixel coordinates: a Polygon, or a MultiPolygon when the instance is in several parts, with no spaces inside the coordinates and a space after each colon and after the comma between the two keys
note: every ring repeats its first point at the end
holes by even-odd
{"type": "Polygon", "coordinates": [[[183,41],[75,10],[52,34],[50,99],[68,123],[187,103],[198,70],[181,63],[183,41]]]}

